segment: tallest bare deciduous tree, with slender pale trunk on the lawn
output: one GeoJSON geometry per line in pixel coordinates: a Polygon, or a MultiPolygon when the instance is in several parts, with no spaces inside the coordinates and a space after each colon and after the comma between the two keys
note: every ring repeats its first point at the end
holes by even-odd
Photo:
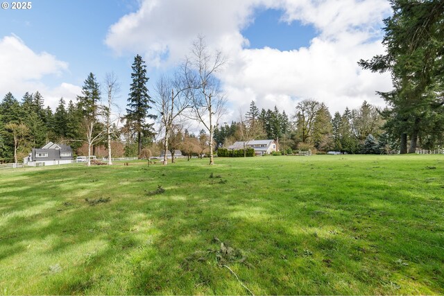
{"type": "Polygon", "coordinates": [[[225,112],[225,97],[221,92],[215,73],[225,64],[220,51],[211,53],[205,44],[205,38],[198,36],[187,57],[189,69],[186,79],[189,85],[189,98],[193,107],[191,118],[196,119],[210,134],[210,165],[214,164],[214,128],[225,112]]]}

